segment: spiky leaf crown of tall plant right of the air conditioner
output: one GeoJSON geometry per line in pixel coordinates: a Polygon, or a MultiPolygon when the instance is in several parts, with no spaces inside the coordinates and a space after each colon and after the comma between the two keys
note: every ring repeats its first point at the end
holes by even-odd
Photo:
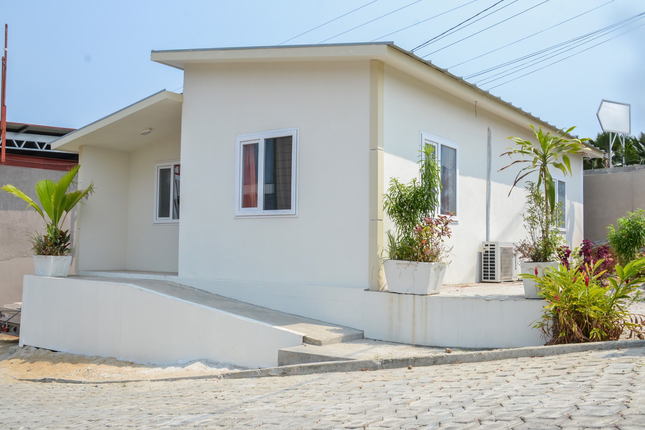
{"type": "MultiPolygon", "coordinates": [[[[571,174],[571,160],[569,155],[580,153],[584,150],[584,145],[582,142],[588,141],[588,138],[584,139],[568,139],[566,137],[569,133],[575,129],[571,127],[568,130],[560,130],[559,133],[544,133],[542,132],[542,127],[539,130],[535,130],[535,127],[531,126],[533,130],[533,135],[537,139],[536,143],[525,141],[519,137],[508,137],[514,141],[519,148],[507,148],[508,151],[502,153],[502,155],[522,155],[526,156],[525,159],[515,160],[508,164],[508,166],[502,167],[499,171],[502,171],[510,166],[513,166],[515,163],[530,163],[528,166],[522,168],[515,176],[515,182],[511,187],[511,191],[508,192],[508,195],[511,194],[513,188],[533,171],[537,171],[538,180],[537,188],[540,188],[544,184],[544,195],[548,198],[549,204],[546,205],[546,219],[550,219],[550,213],[553,212],[555,208],[555,185],[553,185],[553,179],[551,178],[551,173],[549,171],[549,166],[553,166],[558,170],[562,171],[562,174],[566,176],[571,174]]],[[[502,156],[500,155],[500,157],[502,156]]]]}

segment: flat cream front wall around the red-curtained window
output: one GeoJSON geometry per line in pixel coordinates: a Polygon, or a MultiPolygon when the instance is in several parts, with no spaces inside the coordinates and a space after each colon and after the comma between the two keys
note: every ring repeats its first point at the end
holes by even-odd
{"type": "Polygon", "coordinates": [[[368,286],[369,67],[186,65],[180,276],[368,286]],[[299,216],[234,219],[235,136],[290,127],[299,216]]]}

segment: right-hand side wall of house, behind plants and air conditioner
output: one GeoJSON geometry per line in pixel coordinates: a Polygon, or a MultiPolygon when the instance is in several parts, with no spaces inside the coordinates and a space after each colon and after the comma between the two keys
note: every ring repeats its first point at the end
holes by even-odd
{"type": "MultiPolygon", "coordinates": [[[[528,121],[528,119],[527,119],[528,121]]],[[[490,239],[515,242],[526,237],[522,227],[525,193],[522,187],[511,193],[519,167],[498,172],[512,160],[499,157],[513,144],[509,136],[533,140],[531,130],[490,115],[481,108],[475,117],[475,104],[460,101],[442,90],[387,66],[384,76],[384,189],[390,177],[408,182],[418,176],[416,164],[421,148],[421,132],[459,144],[459,223],[452,224],[453,246],[445,284],[474,282],[477,253],[486,240],[486,170],[488,127],[492,132],[492,191],[490,239]]],[[[573,177],[566,177],[566,239],[573,246],[582,240],[582,157],[572,157],[573,177]]],[[[553,171],[553,173],[556,173],[553,171]]],[[[526,179],[537,181],[537,175],[526,179]]],[[[384,232],[392,229],[386,219],[384,232]]],[[[384,240],[384,243],[386,241],[384,240]]]]}

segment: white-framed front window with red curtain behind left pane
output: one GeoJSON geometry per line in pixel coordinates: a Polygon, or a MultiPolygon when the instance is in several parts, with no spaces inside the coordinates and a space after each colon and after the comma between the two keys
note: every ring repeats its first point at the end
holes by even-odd
{"type": "Polygon", "coordinates": [[[235,140],[235,217],[297,216],[298,129],[235,140]]]}

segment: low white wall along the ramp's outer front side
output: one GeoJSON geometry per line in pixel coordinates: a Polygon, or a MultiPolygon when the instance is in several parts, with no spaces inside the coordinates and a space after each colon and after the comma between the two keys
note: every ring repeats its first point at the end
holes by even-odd
{"type": "Polygon", "coordinates": [[[277,366],[299,333],[130,284],[25,276],[20,343],[144,364],[277,366]]]}

